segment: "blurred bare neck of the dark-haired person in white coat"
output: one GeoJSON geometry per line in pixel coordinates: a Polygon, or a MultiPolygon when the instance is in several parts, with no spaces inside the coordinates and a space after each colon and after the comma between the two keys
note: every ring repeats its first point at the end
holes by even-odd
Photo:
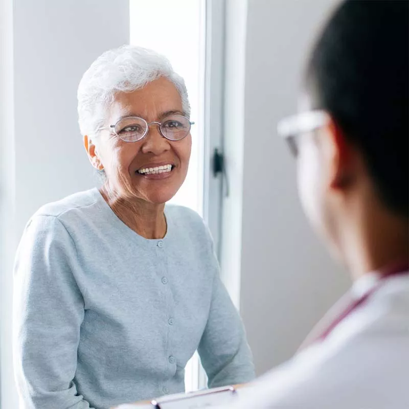
{"type": "Polygon", "coordinates": [[[385,209],[378,200],[358,200],[349,210],[343,228],[338,231],[338,244],[353,280],[370,272],[384,274],[397,264],[407,264],[407,217],[385,209]]]}

